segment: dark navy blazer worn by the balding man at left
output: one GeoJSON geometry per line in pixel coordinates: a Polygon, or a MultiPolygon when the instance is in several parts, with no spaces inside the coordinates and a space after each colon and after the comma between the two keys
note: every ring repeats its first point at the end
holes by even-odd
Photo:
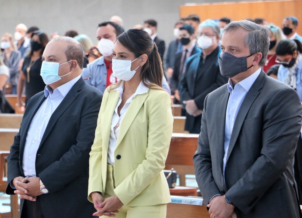
{"type": "MultiPolygon", "coordinates": [[[[87,200],[88,163],[102,96],[81,77],[48,122],[36,156],[36,176],[49,191],[39,196],[46,218],[93,217],[94,206],[87,200]]],[[[7,194],[14,194],[10,182],[24,177],[22,160],[27,131],[45,99],[44,92],[40,92],[28,101],[8,156],[7,194]]],[[[20,214],[23,203],[21,199],[20,214]]]]}

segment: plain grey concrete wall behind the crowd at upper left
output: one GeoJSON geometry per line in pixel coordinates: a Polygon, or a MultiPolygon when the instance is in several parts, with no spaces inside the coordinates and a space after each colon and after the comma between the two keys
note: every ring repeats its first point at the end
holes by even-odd
{"type": "MultiPolygon", "coordinates": [[[[232,2],[238,0],[232,0],[232,2]]],[[[224,2],[219,0],[189,0],[190,3],[224,2]]],[[[14,33],[16,24],[38,26],[50,35],[64,34],[75,29],[97,43],[96,29],[100,22],[113,15],[124,19],[124,28],[143,24],[146,19],[158,22],[158,35],[168,44],[173,37],[173,26],[179,19],[179,6],[186,0],[0,0],[0,36],[14,33]]]]}

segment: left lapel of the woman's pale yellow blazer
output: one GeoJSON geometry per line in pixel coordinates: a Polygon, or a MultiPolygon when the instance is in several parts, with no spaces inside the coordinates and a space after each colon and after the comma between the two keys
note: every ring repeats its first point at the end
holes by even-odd
{"type": "Polygon", "coordinates": [[[109,92],[109,96],[106,104],[106,109],[102,116],[102,140],[103,140],[103,148],[105,148],[106,152],[108,152],[108,146],[109,146],[109,138],[110,138],[110,131],[111,131],[111,123],[112,123],[112,116],[116,107],[116,104],[119,100],[119,93],[115,90],[111,90],[109,92]],[[110,114],[110,116],[109,116],[110,114]],[[107,115],[107,116],[106,116],[107,115]]]}

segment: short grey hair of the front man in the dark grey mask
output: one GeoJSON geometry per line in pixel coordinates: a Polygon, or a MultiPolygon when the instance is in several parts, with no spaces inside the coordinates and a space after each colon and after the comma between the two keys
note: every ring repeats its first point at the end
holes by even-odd
{"type": "Polygon", "coordinates": [[[248,20],[234,21],[226,25],[223,33],[230,32],[236,29],[244,29],[248,32],[245,37],[244,45],[249,48],[251,55],[261,52],[262,58],[259,65],[263,66],[266,61],[268,48],[270,45],[270,31],[266,26],[255,24],[248,20]]]}

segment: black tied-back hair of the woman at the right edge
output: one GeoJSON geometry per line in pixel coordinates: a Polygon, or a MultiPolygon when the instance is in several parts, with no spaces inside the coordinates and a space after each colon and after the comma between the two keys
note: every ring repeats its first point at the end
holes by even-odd
{"type": "Polygon", "coordinates": [[[276,45],[276,55],[292,55],[294,51],[302,53],[302,44],[299,40],[283,39],[276,45]]]}

